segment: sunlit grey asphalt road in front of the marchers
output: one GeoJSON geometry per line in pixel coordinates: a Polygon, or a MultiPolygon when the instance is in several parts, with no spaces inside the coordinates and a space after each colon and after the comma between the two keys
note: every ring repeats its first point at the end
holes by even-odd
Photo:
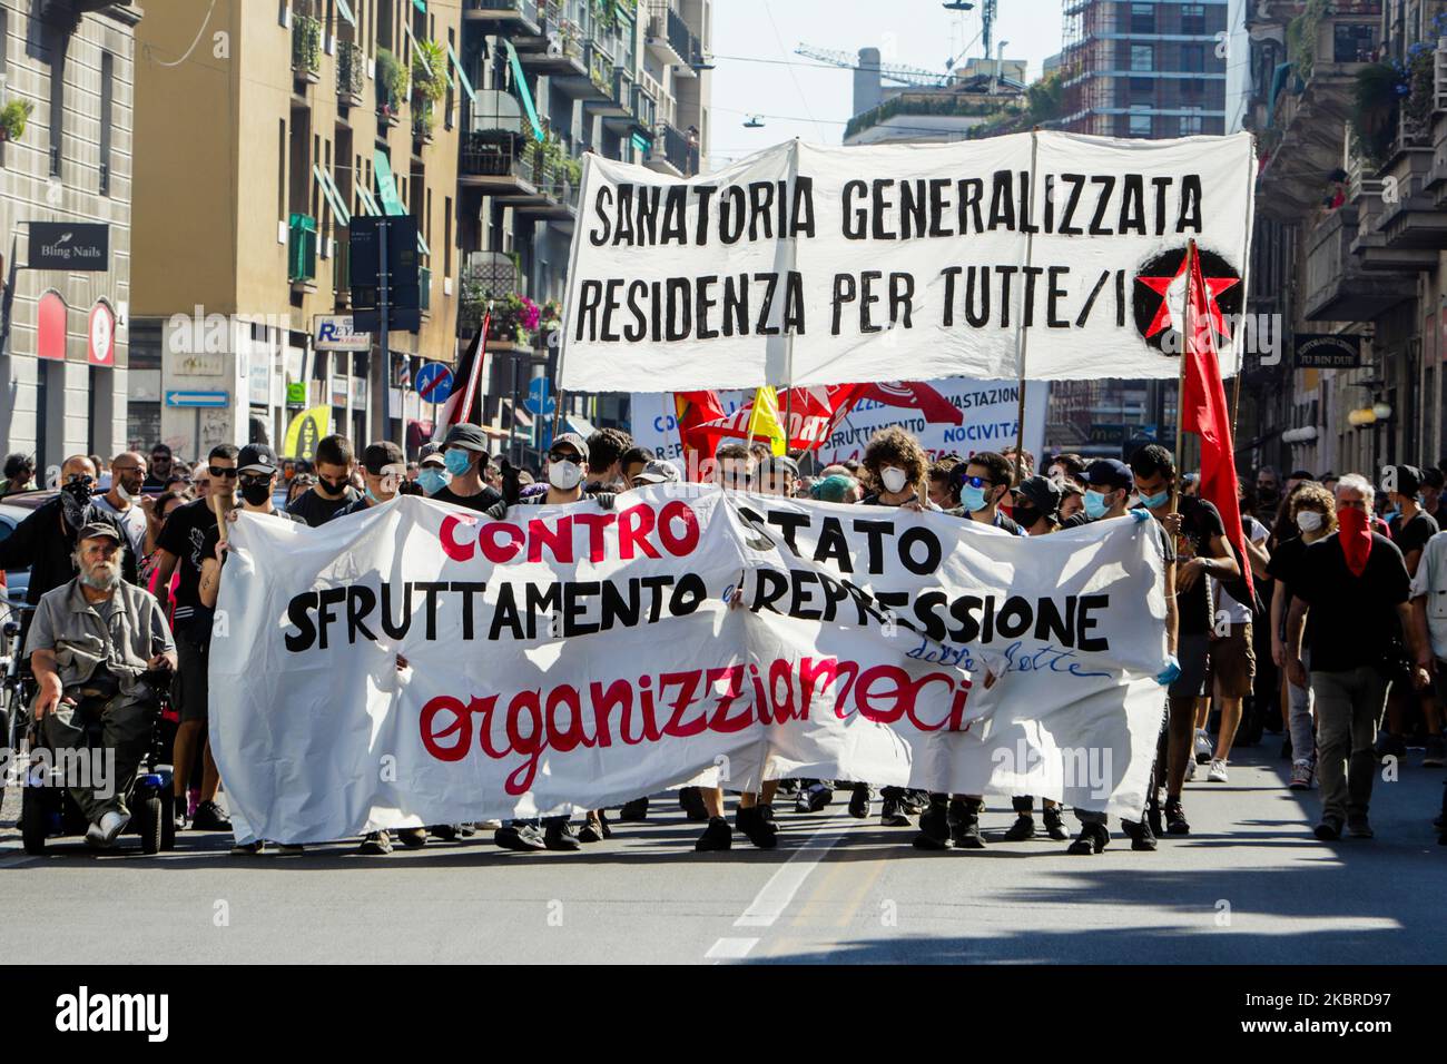
{"type": "MultiPolygon", "coordinates": [[[[1239,751],[1230,783],[1192,783],[1192,834],[1132,853],[1064,843],[922,854],[913,832],[781,812],[778,850],[741,837],[696,854],[671,795],[647,824],[576,854],[515,854],[491,832],[362,857],[230,857],[184,832],[177,851],[94,856],[78,840],[20,851],[0,815],[0,884],[55,963],[1440,963],[1447,847],[1431,818],[1443,770],[1412,751],[1378,782],[1376,840],[1312,838],[1315,793],[1285,789],[1279,740],[1239,751]]],[[[1204,772],[1202,772],[1204,777],[1204,772]]],[[[784,809],[784,805],[780,805],[784,809]]],[[[987,835],[1010,824],[993,802],[987,835]]],[[[1074,824],[1074,821],[1071,821],[1074,824]]]]}

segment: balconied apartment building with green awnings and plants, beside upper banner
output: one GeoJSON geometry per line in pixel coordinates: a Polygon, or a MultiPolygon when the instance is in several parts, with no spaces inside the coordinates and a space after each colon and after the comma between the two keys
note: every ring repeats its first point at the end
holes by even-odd
{"type": "MultiPolygon", "coordinates": [[[[535,456],[553,391],[583,159],[670,177],[706,168],[709,26],[705,0],[463,0],[463,117],[457,198],[466,266],[463,324],[491,308],[483,417],[499,450],[535,456]],[[544,313],[528,326],[522,300],[544,313]],[[519,318],[522,318],[519,321],[519,318]],[[535,384],[544,381],[546,385],[535,384]]],[[[569,395],[572,427],[627,421],[627,397],[569,395]]]]}

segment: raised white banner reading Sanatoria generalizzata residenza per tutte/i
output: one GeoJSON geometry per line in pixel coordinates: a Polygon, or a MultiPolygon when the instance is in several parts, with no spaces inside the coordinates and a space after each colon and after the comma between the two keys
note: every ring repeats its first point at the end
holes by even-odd
{"type": "Polygon", "coordinates": [[[689,180],[589,155],[561,387],[1013,381],[1022,347],[1030,379],[1175,378],[1187,245],[1229,334],[1253,180],[1247,133],[796,140],[689,180]]]}

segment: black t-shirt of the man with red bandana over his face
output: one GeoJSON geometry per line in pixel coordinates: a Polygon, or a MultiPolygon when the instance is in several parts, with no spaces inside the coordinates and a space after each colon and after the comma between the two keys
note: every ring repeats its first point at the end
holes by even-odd
{"type": "Polygon", "coordinates": [[[1307,602],[1312,672],[1379,666],[1401,633],[1396,607],[1411,596],[1402,552],[1372,534],[1366,569],[1347,569],[1337,533],[1307,547],[1295,594],[1307,602]]]}

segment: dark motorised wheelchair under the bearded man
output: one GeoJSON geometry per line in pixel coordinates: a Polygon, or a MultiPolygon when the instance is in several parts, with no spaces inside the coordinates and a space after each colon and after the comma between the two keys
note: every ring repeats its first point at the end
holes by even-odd
{"type": "MultiPolygon", "coordinates": [[[[149,746],[126,795],[130,824],[126,825],[124,834],[139,835],[140,851],[150,856],[175,848],[177,841],[171,744],[166,741],[166,722],[172,717],[171,673],[149,672],[142,680],[155,695],[156,711],[149,746]]],[[[20,840],[27,854],[41,856],[51,840],[84,835],[90,824],[65,786],[61,759],[46,746],[39,721],[29,712],[26,721],[29,761],[20,790],[20,840]]],[[[103,746],[103,728],[98,715],[87,719],[87,750],[98,750],[103,746]]]]}

